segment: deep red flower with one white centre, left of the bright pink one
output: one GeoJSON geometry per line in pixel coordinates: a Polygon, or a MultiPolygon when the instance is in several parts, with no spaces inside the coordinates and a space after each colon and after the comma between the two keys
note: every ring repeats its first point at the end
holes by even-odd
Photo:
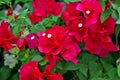
{"type": "Polygon", "coordinates": [[[76,10],[78,4],[79,2],[67,4],[65,12],[62,13],[62,19],[66,22],[66,28],[69,31],[68,34],[77,41],[82,42],[87,26],[86,20],[80,14],[80,11],[76,10]]]}

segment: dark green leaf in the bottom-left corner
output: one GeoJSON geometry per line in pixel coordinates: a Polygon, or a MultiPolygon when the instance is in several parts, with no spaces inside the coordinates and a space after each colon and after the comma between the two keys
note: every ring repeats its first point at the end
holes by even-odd
{"type": "Polygon", "coordinates": [[[8,67],[0,68],[0,80],[7,80],[11,74],[11,69],[8,67]]]}

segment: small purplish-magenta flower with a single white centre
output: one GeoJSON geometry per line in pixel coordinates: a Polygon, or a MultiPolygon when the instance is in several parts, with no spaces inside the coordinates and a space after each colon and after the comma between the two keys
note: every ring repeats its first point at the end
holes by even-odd
{"type": "Polygon", "coordinates": [[[29,48],[35,49],[38,47],[38,37],[34,33],[28,34],[25,41],[29,48]]]}

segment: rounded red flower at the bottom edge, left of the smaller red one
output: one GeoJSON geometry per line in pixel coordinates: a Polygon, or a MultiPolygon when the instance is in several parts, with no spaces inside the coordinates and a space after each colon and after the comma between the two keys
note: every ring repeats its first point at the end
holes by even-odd
{"type": "Polygon", "coordinates": [[[39,71],[38,62],[30,61],[22,65],[19,74],[20,80],[43,80],[42,73],[39,71]]]}

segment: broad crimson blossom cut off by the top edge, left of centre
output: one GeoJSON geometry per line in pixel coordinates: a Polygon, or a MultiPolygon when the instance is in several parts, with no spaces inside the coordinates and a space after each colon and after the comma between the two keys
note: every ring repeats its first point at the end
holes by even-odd
{"type": "Polygon", "coordinates": [[[40,15],[43,11],[47,15],[54,14],[57,16],[62,10],[63,3],[58,4],[55,0],[33,0],[32,5],[36,14],[40,15]]]}

